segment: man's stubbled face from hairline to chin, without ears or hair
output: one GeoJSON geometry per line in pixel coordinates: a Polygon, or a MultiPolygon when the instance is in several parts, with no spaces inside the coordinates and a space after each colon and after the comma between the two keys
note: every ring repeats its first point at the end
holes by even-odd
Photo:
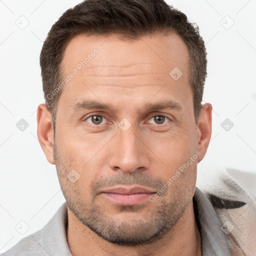
{"type": "Polygon", "coordinates": [[[160,238],[191,202],[201,153],[188,62],[174,33],[132,41],[79,35],[64,51],[63,77],[75,74],[57,104],[58,178],[73,214],[110,242],[160,238]],[[135,186],[153,193],[104,192],[135,186]]]}

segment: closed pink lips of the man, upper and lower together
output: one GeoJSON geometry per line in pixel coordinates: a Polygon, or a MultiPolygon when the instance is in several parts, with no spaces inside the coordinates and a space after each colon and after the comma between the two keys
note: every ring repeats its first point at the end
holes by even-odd
{"type": "Polygon", "coordinates": [[[156,193],[155,189],[141,186],[124,187],[118,186],[101,191],[102,195],[110,201],[120,205],[135,205],[149,200],[156,193]]]}

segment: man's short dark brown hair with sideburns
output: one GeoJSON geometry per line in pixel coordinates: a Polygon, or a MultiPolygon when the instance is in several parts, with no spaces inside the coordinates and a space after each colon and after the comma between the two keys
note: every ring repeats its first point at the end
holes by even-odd
{"type": "Polygon", "coordinates": [[[189,83],[193,92],[194,117],[197,123],[206,77],[206,50],[198,26],[184,13],[164,0],[85,0],[66,10],[52,25],[40,54],[43,92],[47,109],[55,124],[56,105],[60,95],[60,66],[64,49],[78,34],[119,34],[139,39],[154,32],[173,31],[189,51],[189,83]],[[58,93],[53,93],[57,91],[58,93]],[[50,95],[50,96],[49,96],[50,95]]]}

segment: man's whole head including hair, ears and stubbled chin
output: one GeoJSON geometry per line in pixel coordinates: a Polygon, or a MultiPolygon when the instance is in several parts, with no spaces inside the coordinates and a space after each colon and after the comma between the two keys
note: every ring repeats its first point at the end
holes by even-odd
{"type": "Polygon", "coordinates": [[[87,0],[52,26],[40,65],[37,134],[70,211],[112,243],[170,231],[211,135],[198,28],[161,0],[87,0]],[[117,203],[104,191],[120,185],[152,194],[117,203]]]}

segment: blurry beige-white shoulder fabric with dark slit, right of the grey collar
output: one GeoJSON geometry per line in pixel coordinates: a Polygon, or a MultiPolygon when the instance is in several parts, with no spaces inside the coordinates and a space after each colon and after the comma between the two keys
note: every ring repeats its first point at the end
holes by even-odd
{"type": "Polygon", "coordinates": [[[256,174],[231,168],[202,173],[197,187],[213,206],[231,254],[256,254],[256,174]]]}

